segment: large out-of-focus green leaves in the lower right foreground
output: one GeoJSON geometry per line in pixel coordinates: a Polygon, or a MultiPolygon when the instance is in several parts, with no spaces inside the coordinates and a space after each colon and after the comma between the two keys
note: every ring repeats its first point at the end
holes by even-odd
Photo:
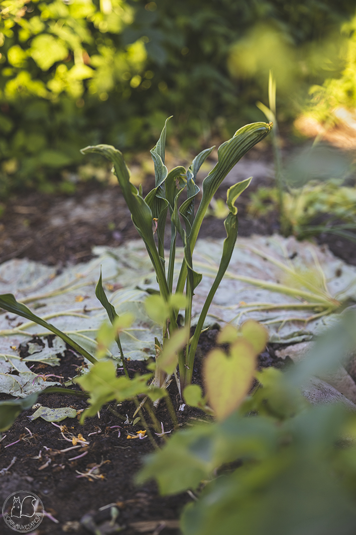
{"type": "Polygon", "coordinates": [[[356,522],[356,417],[342,404],[312,405],[300,390],[337,370],[354,349],[354,312],[284,373],[267,368],[222,422],[177,431],[146,456],[138,483],[161,494],[195,492],[184,535],[352,535],[356,522]]]}

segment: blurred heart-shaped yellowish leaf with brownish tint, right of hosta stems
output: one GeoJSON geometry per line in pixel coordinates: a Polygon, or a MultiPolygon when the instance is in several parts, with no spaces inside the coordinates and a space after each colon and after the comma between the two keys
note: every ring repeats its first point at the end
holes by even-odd
{"type": "Polygon", "coordinates": [[[256,356],[251,343],[240,338],[230,347],[229,355],[221,349],[213,349],[206,357],[205,392],[218,420],[229,416],[249,392],[256,356]]]}

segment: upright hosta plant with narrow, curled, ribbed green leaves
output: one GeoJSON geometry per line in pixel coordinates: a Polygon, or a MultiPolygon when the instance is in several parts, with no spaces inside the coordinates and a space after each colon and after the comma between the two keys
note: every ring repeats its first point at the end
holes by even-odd
{"type": "MultiPolygon", "coordinates": [[[[91,399],[92,410],[89,411],[89,414],[95,414],[96,410],[98,410],[97,407],[114,398],[133,398],[136,394],[142,393],[150,395],[152,400],[163,396],[164,390],[162,388],[164,389],[167,386],[169,378],[173,373],[176,373],[177,366],[179,369],[179,382],[177,374],[176,378],[181,396],[184,388],[191,384],[199,336],[215,292],[228,268],[237,238],[238,220],[235,202],[237,197],[249,186],[251,178],[238,182],[227,190],[229,212],[224,221],[227,236],[223,242],[219,269],[200,313],[195,332],[190,337],[192,300],[195,288],[202,280],[202,275],[195,271],[192,261],[200,226],[213,195],[228,172],[251,147],[268,135],[273,126],[272,123],[246,125],[219,147],[218,163],[203,181],[202,197],[196,211],[195,204],[200,191],[196,184],[197,173],[214,147],[200,152],[194,158],[189,169],[186,170],[184,167],[178,166],[168,172],[165,166],[166,125],[167,121],[156,146],[151,150],[156,181],[154,188],[145,197],[143,196],[142,186],[137,189],[131,184],[129,170],[119,150],[109,145],[98,145],[82,149],[83,154],[94,152],[105,156],[112,162],[122,195],[131,212],[131,218],[138,234],[140,234],[145,243],[153,269],[156,272],[159,290],[151,291],[152,295],[146,299],[146,309],[153,319],[161,323],[162,338],[155,341],[156,370],[150,387],[145,386],[148,378],[145,378],[145,380],[136,378],[130,381],[128,377],[125,356],[122,354],[120,343],[120,330],[128,319],[119,318],[113,305],[107,300],[102,286],[101,275],[96,288],[96,296],[106,309],[112,323],[114,334],[111,335],[118,343],[126,377],[116,378],[113,362],[98,362],[93,355],[90,355],[88,351],[80,347],[78,343],[75,343],[66,334],[34,315],[24,304],[17,302],[12,294],[0,296],[0,307],[48,328],[48,330],[57,334],[94,364],[89,374],[81,380],[81,386],[84,389],[96,392],[94,394],[96,401],[94,402],[94,399],[91,399]],[[181,202],[184,191],[187,198],[181,202]],[[169,216],[171,224],[168,262],[165,260],[167,216],[169,216]],[[178,234],[181,236],[184,246],[184,259],[179,277],[174,285],[175,248],[178,234]],[[184,309],[184,319],[182,324],[178,325],[177,317],[180,309],[184,309]],[[104,388],[99,392],[99,384],[103,380],[103,377],[100,379],[100,374],[101,376],[104,374],[105,380],[109,377],[111,388],[104,388]],[[118,392],[121,393],[118,394],[118,392]]],[[[242,348],[239,347],[236,351],[235,353],[240,355],[242,348]]],[[[251,350],[247,350],[247,353],[248,351],[251,353],[251,350]]],[[[251,354],[253,353],[254,351],[251,354]]],[[[98,349],[97,356],[100,356],[100,349],[98,349]]]]}

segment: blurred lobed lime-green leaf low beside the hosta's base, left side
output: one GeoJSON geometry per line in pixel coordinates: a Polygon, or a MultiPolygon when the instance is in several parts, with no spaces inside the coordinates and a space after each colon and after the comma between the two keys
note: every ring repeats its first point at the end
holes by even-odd
{"type": "Polygon", "coordinates": [[[90,408],[86,409],[81,422],[87,416],[94,416],[100,408],[113,399],[125,401],[137,394],[147,394],[147,381],[150,374],[137,376],[134,379],[116,377],[116,366],[112,361],[97,362],[89,373],[74,379],[80,387],[90,394],[90,408]]]}

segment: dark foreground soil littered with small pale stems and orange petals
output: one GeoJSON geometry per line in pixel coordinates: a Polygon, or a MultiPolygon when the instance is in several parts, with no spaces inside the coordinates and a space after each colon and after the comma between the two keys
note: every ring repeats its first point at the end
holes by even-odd
{"type": "MultiPolygon", "coordinates": [[[[212,328],[200,337],[194,383],[201,384],[202,359],[216,346],[217,334],[218,329],[212,328]]],[[[49,338],[53,337],[50,335],[49,338]]],[[[33,339],[33,342],[36,342],[36,339],[33,339]]],[[[259,368],[270,365],[281,368],[285,365],[285,361],[275,356],[274,347],[277,346],[268,346],[259,356],[259,368]]],[[[22,356],[26,356],[26,350],[22,356]]],[[[67,350],[61,357],[55,373],[62,376],[64,381],[72,377],[75,368],[82,364],[81,355],[67,350]]],[[[131,377],[134,373],[147,372],[144,361],[128,362],[128,370],[131,377]]],[[[53,368],[37,364],[33,371],[52,373],[53,368]]],[[[73,388],[80,390],[79,387],[73,388]]],[[[179,410],[181,401],[174,382],[171,383],[169,392],[180,425],[191,425],[201,418],[206,419],[205,413],[199,409],[185,406],[184,410],[179,410]]],[[[8,396],[0,394],[0,397],[6,399],[8,396]]],[[[50,408],[66,406],[80,411],[87,407],[85,400],[74,395],[43,394],[37,401],[44,407],[50,408]]],[[[51,515],[43,519],[36,531],[38,535],[61,535],[64,532],[84,535],[88,530],[80,523],[81,520],[84,523],[90,521],[101,526],[103,535],[112,533],[114,531],[105,531],[112,519],[112,507],[115,508],[115,514],[118,513],[115,525],[121,526],[125,535],[179,533],[176,526],[181,509],[191,500],[191,496],[188,493],[159,496],[156,484],[136,486],[134,483],[134,477],[142,464],[142,456],[154,449],[148,437],[141,440],[127,438],[137,436],[137,431],[142,429],[141,422],[137,422],[134,426],[125,423],[127,416],[132,422],[134,411],[133,403],[124,402],[118,407],[117,403],[112,402],[100,410],[100,417],[87,418],[84,425],[79,423],[78,418],[66,418],[57,423],[57,426],[42,418],[29,421],[28,416],[33,414],[33,409],[22,412],[11,429],[3,434],[6,437],[0,443],[0,468],[8,467],[16,457],[9,472],[0,476],[0,500],[4,502],[12,492],[22,488],[38,495],[46,513],[51,515]],[[70,448],[72,444],[63,438],[58,425],[67,427],[68,432],[64,433],[67,437],[70,435],[78,437],[80,433],[89,441],[89,445],[83,448],[84,452],[87,452],[83,457],[73,459],[82,455],[82,448],[59,453],[59,450],[70,448]],[[118,437],[119,431],[120,437],[118,437]],[[16,442],[19,439],[20,441],[16,442]],[[99,467],[100,463],[103,464],[99,467]],[[99,468],[94,468],[96,466],[99,468]],[[83,476],[84,473],[87,473],[87,476],[83,476]]],[[[163,401],[156,416],[165,432],[173,430],[172,419],[163,401]]],[[[150,425],[146,412],[145,418],[150,425]]],[[[164,443],[163,438],[155,434],[153,436],[158,445],[164,443]]],[[[5,526],[3,529],[6,534],[12,533],[12,530],[5,526]]]]}

